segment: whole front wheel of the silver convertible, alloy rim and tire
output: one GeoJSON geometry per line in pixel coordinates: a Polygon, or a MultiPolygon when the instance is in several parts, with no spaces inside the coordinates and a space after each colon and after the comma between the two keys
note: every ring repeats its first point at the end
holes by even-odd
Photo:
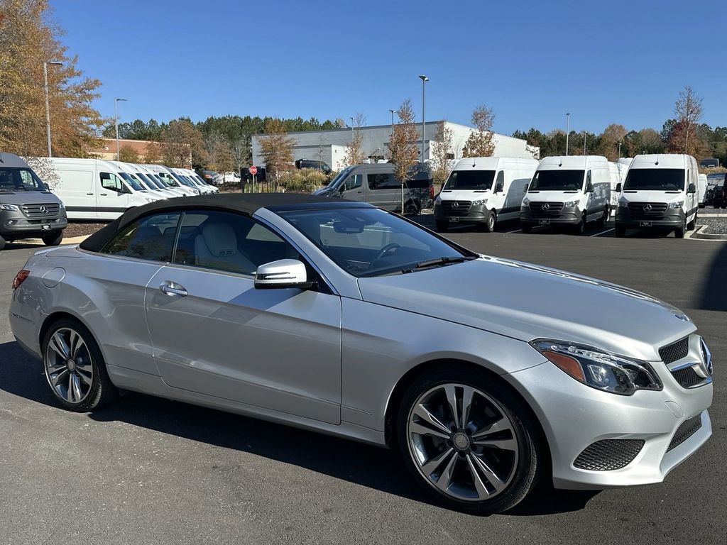
{"type": "Polygon", "coordinates": [[[409,387],[398,416],[401,455],[424,488],[469,512],[502,512],[537,482],[529,413],[486,377],[435,371],[409,387]]]}

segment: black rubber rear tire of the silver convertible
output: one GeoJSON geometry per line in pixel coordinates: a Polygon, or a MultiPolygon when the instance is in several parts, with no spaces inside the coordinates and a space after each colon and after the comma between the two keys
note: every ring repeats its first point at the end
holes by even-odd
{"type": "MultiPolygon", "coordinates": [[[[54,322],[52,326],[48,328],[48,331],[44,336],[42,350],[43,368],[44,374],[46,376],[46,382],[48,383],[48,387],[50,388],[53,398],[55,399],[56,403],[58,403],[58,405],[60,405],[61,407],[65,408],[68,411],[86,413],[88,411],[93,411],[97,408],[103,407],[103,405],[107,405],[108,403],[111,403],[113,400],[116,399],[119,391],[111,383],[111,379],[109,379],[108,377],[108,372],[106,371],[106,363],[103,360],[101,350],[99,349],[98,344],[96,343],[88,328],[78,320],[73,320],[71,318],[62,318],[54,322]],[[53,373],[49,370],[49,358],[52,354],[55,353],[55,351],[50,348],[51,339],[55,334],[63,334],[63,331],[66,330],[76,332],[76,334],[80,336],[85,344],[85,347],[87,348],[87,352],[84,353],[82,357],[74,356],[74,360],[80,362],[84,358],[86,358],[87,355],[90,361],[87,361],[85,363],[85,366],[92,368],[91,384],[88,387],[87,393],[85,393],[81,400],[79,400],[78,402],[73,402],[62,397],[59,392],[57,392],[57,389],[51,384],[53,373]]],[[[76,365],[81,368],[80,363],[73,363],[74,370],[76,368],[76,365]]],[[[73,370],[71,370],[69,367],[66,372],[68,374],[71,374],[71,371],[73,370]]],[[[60,373],[55,374],[56,377],[59,374],[60,373]]],[[[76,370],[76,374],[80,374],[80,371],[76,370]]],[[[63,376],[60,382],[65,382],[65,376],[63,376]]]]}

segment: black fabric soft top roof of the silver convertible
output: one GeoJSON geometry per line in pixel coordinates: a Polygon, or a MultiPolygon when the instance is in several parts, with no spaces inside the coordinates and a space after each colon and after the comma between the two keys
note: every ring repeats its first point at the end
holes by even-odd
{"type": "Polygon", "coordinates": [[[126,210],[113,222],[81,242],[79,247],[88,251],[100,251],[119,230],[147,214],[189,209],[219,209],[252,216],[261,208],[283,212],[326,208],[372,208],[372,206],[342,198],[318,197],[304,193],[217,193],[196,197],[175,197],[126,210]]]}

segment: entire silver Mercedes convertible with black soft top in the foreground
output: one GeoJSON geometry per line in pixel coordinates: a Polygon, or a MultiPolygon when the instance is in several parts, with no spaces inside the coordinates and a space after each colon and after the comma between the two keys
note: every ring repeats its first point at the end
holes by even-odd
{"type": "Polygon", "coordinates": [[[388,445],[465,511],[541,477],[659,483],[712,433],[710,352],[679,310],[365,203],[151,203],[39,251],[13,288],[64,408],[126,389],[388,445]]]}

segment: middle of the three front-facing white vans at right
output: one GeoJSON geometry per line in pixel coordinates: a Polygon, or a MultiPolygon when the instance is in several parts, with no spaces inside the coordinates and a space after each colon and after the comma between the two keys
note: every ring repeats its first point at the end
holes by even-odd
{"type": "Polygon", "coordinates": [[[611,216],[611,171],[601,156],[546,157],[538,165],[520,209],[523,233],[534,225],[606,225],[611,216]]]}

